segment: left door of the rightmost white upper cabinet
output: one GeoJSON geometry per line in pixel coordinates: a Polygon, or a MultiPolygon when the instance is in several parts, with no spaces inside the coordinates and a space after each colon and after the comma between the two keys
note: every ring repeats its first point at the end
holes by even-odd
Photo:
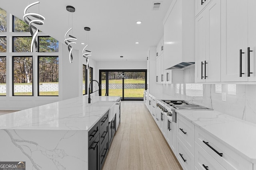
{"type": "Polygon", "coordinates": [[[221,0],[221,3],[221,81],[244,82],[248,80],[246,71],[248,0],[221,0]],[[240,50],[242,50],[241,61],[240,50]],[[242,68],[241,73],[244,73],[242,77],[240,77],[240,68],[242,68]]]}

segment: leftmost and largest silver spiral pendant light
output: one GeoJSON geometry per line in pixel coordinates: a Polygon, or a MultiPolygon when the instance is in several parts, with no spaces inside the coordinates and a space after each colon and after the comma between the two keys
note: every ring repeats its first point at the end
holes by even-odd
{"type": "Polygon", "coordinates": [[[23,20],[28,24],[29,27],[29,31],[31,33],[32,36],[32,40],[31,40],[31,44],[30,44],[30,51],[33,52],[33,44],[36,47],[36,51],[38,50],[38,45],[37,45],[37,41],[36,41],[36,36],[38,34],[38,29],[32,25],[32,23],[36,24],[36,25],[43,25],[45,18],[44,16],[40,15],[40,14],[36,14],[36,13],[27,13],[28,8],[30,8],[31,6],[34,6],[36,4],[39,4],[40,2],[34,2],[32,4],[29,4],[28,6],[26,6],[26,8],[24,9],[24,16],[23,16],[23,20]],[[32,19],[33,18],[33,19],[32,19]]]}

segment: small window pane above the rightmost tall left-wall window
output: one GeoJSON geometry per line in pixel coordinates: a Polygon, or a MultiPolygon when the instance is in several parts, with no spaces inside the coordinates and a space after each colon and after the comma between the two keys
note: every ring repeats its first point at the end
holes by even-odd
{"type": "Polygon", "coordinates": [[[59,42],[50,36],[38,37],[38,52],[59,52],[59,42]]]}

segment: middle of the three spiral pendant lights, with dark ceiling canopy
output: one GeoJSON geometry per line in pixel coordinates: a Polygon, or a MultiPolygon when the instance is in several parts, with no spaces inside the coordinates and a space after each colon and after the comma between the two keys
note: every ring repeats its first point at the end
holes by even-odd
{"type": "MultiPolygon", "coordinates": [[[[75,12],[75,8],[73,6],[66,6],[66,10],[68,12],[75,12]]],[[[73,22],[73,16],[72,16],[72,22],[73,22]]],[[[69,23],[69,18],[68,18],[68,23],[69,23]]],[[[73,27],[73,23],[72,23],[72,27],[73,27]]],[[[69,61],[70,63],[73,63],[73,56],[72,56],[72,50],[73,47],[71,46],[71,44],[76,44],[76,42],[74,42],[75,40],[77,40],[76,37],[73,37],[72,35],[68,35],[68,32],[71,31],[72,27],[70,29],[68,29],[68,31],[65,34],[65,44],[68,45],[68,51],[69,51],[69,61]],[[67,35],[70,38],[67,38],[67,35]]]]}

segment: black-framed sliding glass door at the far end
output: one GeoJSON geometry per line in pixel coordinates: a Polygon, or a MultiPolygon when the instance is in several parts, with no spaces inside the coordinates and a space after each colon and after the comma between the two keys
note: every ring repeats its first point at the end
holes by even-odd
{"type": "Polygon", "coordinates": [[[121,96],[122,100],[143,100],[146,70],[100,70],[102,96],[121,96]]]}

